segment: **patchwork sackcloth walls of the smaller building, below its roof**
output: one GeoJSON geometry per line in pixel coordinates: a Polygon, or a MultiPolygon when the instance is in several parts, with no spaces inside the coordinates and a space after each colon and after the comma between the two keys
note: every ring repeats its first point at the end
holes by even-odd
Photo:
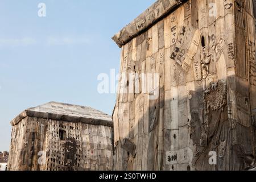
{"type": "Polygon", "coordinates": [[[8,170],[112,170],[112,143],[109,126],[26,117],[13,126],[8,170]]]}

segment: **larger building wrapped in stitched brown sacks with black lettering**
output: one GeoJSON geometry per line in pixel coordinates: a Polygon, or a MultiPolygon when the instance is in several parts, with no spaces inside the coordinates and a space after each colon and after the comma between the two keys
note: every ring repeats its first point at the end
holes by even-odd
{"type": "Polygon", "coordinates": [[[122,47],[114,169],[255,167],[254,8],[157,1],[113,37],[122,47]]]}

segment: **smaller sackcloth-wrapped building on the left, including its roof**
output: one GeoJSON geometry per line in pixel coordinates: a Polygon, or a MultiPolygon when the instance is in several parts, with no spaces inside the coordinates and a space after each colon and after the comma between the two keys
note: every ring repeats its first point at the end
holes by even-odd
{"type": "Polygon", "coordinates": [[[8,170],[113,169],[112,118],[91,107],[49,102],[11,121],[8,170]]]}

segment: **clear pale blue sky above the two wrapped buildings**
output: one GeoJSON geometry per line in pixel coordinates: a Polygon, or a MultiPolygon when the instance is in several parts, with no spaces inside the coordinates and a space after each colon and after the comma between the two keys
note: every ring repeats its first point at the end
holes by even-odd
{"type": "Polygon", "coordinates": [[[58,101],[112,114],[115,94],[98,94],[97,76],[118,72],[111,38],[152,3],[0,0],[0,151],[9,150],[9,122],[28,107],[58,101]]]}

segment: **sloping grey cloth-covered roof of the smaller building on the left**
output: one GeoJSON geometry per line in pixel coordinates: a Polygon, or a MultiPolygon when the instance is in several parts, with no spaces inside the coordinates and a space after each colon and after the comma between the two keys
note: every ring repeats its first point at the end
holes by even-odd
{"type": "Polygon", "coordinates": [[[113,126],[112,117],[102,111],[88,106],[64,104],[54,101],[24,110],[11,121],[11,125],[17,125],[27,116],[57,121],[82,122],[91,125],[113,126]]]}

